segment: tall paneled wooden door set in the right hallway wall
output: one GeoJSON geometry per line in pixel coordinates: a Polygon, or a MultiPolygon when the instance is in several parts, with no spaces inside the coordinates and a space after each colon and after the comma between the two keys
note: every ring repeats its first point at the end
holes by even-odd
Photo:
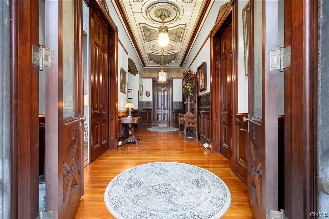
{"type": "Polygon", "coordinates": [[[232,158],[232,24],[220,39],[220,153],[232,158]]]}

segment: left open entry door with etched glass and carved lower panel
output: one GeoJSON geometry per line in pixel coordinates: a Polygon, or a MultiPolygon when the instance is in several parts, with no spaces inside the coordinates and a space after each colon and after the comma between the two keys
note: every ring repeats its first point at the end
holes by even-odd
{"type": "Polygon", "coordinates": [[[73,219],[84,193],[82,1],[45,1],[46,211],[73,219]]]}

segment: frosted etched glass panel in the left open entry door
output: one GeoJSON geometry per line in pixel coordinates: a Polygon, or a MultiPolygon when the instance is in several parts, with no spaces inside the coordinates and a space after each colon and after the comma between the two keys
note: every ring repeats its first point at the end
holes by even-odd
{"type": "Polygon", "coordinates": [[[63,118],[75,116],[74,6],[63,1],[63,118]]]}

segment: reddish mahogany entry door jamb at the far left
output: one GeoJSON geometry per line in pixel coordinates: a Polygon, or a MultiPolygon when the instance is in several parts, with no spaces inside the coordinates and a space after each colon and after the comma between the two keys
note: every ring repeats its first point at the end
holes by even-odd
{"type": "Polygon", "coordinates": [[[39,73],[32,65],[31,51],[32,43],[39,42],[34,31],[38,27],[38,1],[10,1],[10,8],[11,218],[34,219],[38,215],[39,73]]]}

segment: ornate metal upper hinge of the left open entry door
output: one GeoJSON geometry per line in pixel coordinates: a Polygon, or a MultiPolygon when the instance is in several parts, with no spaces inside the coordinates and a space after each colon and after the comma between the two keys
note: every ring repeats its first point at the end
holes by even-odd
{"type": "Polygon", "coordinates": [[[37,65],[39,70],[53,68],[54,50],[45,48],[43,45],[32,44],[32,64],[37,65]]]}

